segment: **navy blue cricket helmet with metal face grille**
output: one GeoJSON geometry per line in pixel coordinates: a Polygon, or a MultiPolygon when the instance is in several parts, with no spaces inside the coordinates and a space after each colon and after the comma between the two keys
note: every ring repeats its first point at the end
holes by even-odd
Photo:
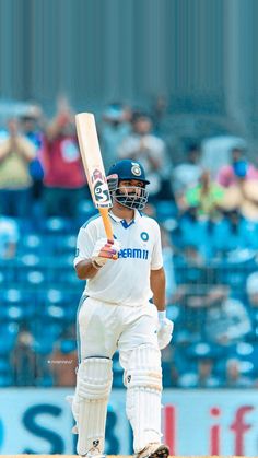
{"type": "Polygon", "coordinates": [[[148,201],[148,191],[145,185],[150,181],[145,177],[145,171],[138,161],[121,160],[116,162],[108,171],[107,184],[113,200],[116,200],[124,207],[129,209],[142,210],[148,201]],[[143,183],[143,187],[127,186],[128,192],[119,187],[119,183],[124,180],[138,180],[143,183]]]}

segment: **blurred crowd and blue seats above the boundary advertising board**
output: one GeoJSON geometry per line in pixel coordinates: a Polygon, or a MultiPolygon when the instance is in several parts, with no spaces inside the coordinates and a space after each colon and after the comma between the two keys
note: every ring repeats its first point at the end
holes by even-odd
{"type": "MultiPolygon", "coordinates": [[[[173,341],[165,387],[258,387],[258,168],[246,141],[209,141],[152,109],[109,104],[97,117],[106,171],[136,158],[150,179],[145,212],[162,227],[173,341]],[[168,127],[167,127],[168,126],[168,127]],[[172,131],[169,131],[169,129],[172,131]],[[174,139],[174,140],[172,140],[174,139]]],[[[83,284],[75,234],[95,213],[74,113],[37,105],[0,132],[0,386],[73,386],[75,314],[83,284]]],[[[122,386],[114,359],[114,385],[122,386]]]]}

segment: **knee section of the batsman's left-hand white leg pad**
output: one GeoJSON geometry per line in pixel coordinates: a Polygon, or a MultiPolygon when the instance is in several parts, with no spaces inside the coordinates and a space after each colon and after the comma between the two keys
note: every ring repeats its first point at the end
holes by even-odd
{"type": "Polygon", "coordinates": [[[83,360],[77,374],[77,392],[87,400],[106,399],[112,389],[112,360],[87,357],[83,360]]]}

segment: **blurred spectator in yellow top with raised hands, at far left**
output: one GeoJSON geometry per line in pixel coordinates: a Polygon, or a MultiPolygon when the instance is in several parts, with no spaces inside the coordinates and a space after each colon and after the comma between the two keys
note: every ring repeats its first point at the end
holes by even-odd
{"type": "Polygon", "coordinates": [[[21,132],[16,119],[8,122],[9,138],[0,143],[0,212],[25,218],[31,211],[32,177],[30,164],[35,146],[21,132]]]}

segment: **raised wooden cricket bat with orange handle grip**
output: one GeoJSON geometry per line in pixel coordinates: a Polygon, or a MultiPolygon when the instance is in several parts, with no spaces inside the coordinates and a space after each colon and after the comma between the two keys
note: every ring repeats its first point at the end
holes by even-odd
{"type": "Polygon", "coordinates": [[[102,215],[107,239],[114,243],[112,223],[108,218],[112,198],[107,186],[94,115],[92,113],[79,113],[75,115],[75,125],[92,200],[102,215]]]}

